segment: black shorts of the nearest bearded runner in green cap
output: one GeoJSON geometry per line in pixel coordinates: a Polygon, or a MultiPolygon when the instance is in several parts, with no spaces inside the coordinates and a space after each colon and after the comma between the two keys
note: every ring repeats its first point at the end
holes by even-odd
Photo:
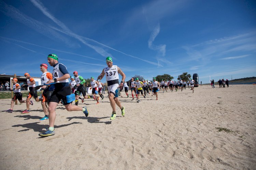
{"type": "MultiPolygon", "coordinates": [[[[49,99],[49,102],[55,102],[55,103],[59,103],[60,100],[62,99],[62,102],[64,105],[67,105],[69,103],[67,103],[67,98],[66,96],[70,95],[71,91],[70,91],[70,87],[62,87],[62,88],[56,88],[54,89],[51,98],[49,99]]],[[[71,103],[71,102],[70,102],[71,103]]]]}

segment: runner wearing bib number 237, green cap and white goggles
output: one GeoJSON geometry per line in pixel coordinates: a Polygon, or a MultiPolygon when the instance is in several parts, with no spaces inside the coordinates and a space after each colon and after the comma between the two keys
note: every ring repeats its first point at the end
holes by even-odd
{"type": "Polygon", "coordinates": [[[108,67],[105,67],[102,70],[101,74],[98,76],[98,80],[101,80],[106,74],[106,80],[108,82],[109,101],[113,110],[110,119],[114,120],[116,118],[116,105],[121,109],[122,116],[125,116],[125,107],[122,106],[122,104],[118,100],[118,97],[115,97],[117,88],[120,87],[120,89],[123,89],[125,73],[119,67],[113,65],[113,60],[111,57],[106,57],[106,64],[108,65],[108,67]],[[118,73],[122,75],[122,81],[120,85],[118,73]]]}

